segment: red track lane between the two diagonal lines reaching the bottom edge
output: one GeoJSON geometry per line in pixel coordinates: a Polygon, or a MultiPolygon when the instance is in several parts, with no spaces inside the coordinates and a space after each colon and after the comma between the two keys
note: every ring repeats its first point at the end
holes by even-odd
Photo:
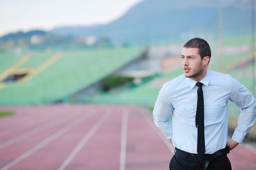
{"type": "MultiPolygon", "coordinates": [[[[85,134],[87,134],[92,128],[92,126],[100,118],[101,113],[95,113],[82,110],[82,115],[87,116],[87,118],[82,121],[79,125],[76,125],[72,129],[60,135],[55,140],[49,142],[47,145],[39,149],[37,152],[33,153],[28,159],[24,159],[23,162],[18,164],[19,169],[58,169],[68,155],[73,151],[73,149],[82,140],[85,134]],[[43,161],[42,161],[43,158],[43,161]],[[31,164],[31,162],[36,162],[31,164]]],[[[79,118],[78,118],[79,119],[79,118]]],[[[14,169],[16,169],[14,167],[14,169]]]]}

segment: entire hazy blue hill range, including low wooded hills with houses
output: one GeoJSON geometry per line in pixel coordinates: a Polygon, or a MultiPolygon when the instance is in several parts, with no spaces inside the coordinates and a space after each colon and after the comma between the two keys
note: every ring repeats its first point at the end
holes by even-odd
{"type": "MultiPolygon", "coordinates": [[[[256,22],[255,22],[256,23],[256,22]]],[[[186,41],[191,37],[216,40],[252,33],[251,1],[145,0],[105,25],[58,26],[48,32],[9,33],[0,38],[0,50],[12,47],[110,47],[186,41]],[[33,42],[33,35],[39,41],[33,42]],[[87,38],[95,38],[87,43],[87,38]],[[89,45],[88,45],[89,44],[89,45]],[[92,45],[93,44],[93,45],[92,45]]]]}

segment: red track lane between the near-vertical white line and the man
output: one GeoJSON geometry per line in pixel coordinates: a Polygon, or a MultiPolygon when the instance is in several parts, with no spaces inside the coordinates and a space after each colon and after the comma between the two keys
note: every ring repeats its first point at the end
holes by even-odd
{"type": "Polygon", "coordinates": [[[129,111],[126,170],[168,169],[173,154],[151,128],[152,120],[148,122],[144,116],[149,117],[149,111],[138,108],[129,111]]]}

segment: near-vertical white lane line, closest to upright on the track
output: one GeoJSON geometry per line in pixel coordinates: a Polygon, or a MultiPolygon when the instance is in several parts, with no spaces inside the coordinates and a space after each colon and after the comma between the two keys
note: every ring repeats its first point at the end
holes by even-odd
{"type": "Polygon", "coordinates": [[[122,113],[122,135],[121,135],[119,170],[125,169],[125,158],[126,158],[126,149],[127,149],[127,126],[128,126],[128,112],[127,110],[124,110],[122,113]]]}

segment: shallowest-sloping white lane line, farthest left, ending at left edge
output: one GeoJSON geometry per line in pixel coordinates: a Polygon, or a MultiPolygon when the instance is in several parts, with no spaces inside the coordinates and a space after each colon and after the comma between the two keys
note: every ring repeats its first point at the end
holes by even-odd
{"type": "Polygon", "coordinates": [[[10,140],[6,140],[5,142],[2,142],[0,144],[0,149],[3,149],[4,147],[14,144],[18,141],[25,140],[26,138],[31,137],[32,135],[36,135],[38,132],[47,130],[47,129],[53,127],[54,125],[57,125],[58,123],[64,122],[65,120],[69,120],[69,119],[70,118],[64,118],[64,119],[58,119],[56,121],[55,118],[53,118],[53,120],[48,123],[44,123],[43,125],[41,125],[37,128],[34,128],[33,130],[29,130],[28,132],[24,132],[21,135],[18,135],[16,137],[11,138],[10,140]]]}

